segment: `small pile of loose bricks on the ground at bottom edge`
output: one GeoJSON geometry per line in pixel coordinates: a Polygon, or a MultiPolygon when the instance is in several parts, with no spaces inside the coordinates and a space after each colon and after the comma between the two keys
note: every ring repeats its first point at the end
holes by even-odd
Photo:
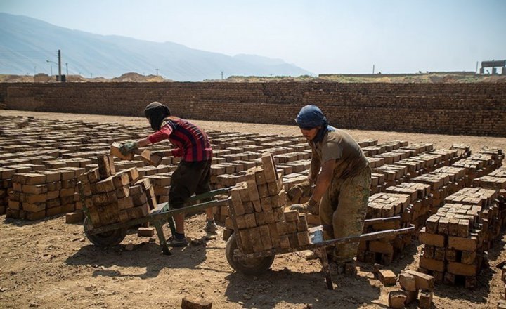
{"type": "Polygon", "coordinates": [[[405,308],[416,299],[418,299],[418,308],[432,307],[434,277],[423,272],[405,270],[398,275],[398,284],[401,289],[389,292],[390,308],[405,308]]]}

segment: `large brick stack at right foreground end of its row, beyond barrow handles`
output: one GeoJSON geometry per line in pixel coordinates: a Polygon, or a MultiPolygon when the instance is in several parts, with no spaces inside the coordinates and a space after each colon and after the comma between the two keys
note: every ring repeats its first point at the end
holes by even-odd
{"type": "Polygon", "coordinates": [[[483,188],[464,188],[447,197],[420,231],[424,244],[420,270],[433,275],[436,282],[474,287],[497,227],[496,197],[495,190],[483,188]]]}

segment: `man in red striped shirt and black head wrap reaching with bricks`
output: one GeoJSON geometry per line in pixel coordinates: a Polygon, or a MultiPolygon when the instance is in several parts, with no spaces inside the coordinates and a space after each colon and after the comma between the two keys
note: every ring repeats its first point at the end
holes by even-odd
{"type": "MultiPolygon", "coordinates": [[[[181,162],[171,176],[169,206],[172,209],[183,207],[188,198],[195,194],[209,192],[211,177],[212,148],[207,134],[190,121],[171,115],[169,107],[162,103],[152,102],[145,107],[145,117],[151,128],[156,131],[150,136],[122,145],[124,155],[162,140],[169,140],[174,150],[164,152],[164,157],[172,155],[181,157],[181,162]]],[[[205,202],[205,201],[203,201],[205,202]]],[[[216,232],[216,223],[212,208],[206,209],[206,232],[216,232]]],[[[188,240],[184,234],[184,213],[174,215],[176,235],[169,238],[170,246],[186,246],[188,240]]]]}

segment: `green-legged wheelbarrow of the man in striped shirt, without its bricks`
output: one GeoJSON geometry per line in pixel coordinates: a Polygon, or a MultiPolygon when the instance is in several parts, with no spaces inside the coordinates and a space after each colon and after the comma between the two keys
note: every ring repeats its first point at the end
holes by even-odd
{"type": "MultiPolygon", "coordinates": [[[[198,200],[207,199],[209,197],[214,197],[216,195],[229,192],[232,188],[233,187],[222,188],[202,193],[200,195],[193,195],[188,199],[186,203],[188,204],[198,200]]],[[[90,223],[91,220],[89,218],[88,211],[86,207],[84,207],[83,211],[86,215],[83,223],[84,234],[89,239],[89,241],[96,246],[116,246],[117,244],[123,241],[124,237],[126,236],[126,230],[128,230],[128,228],[134,225],[142,225],[144,223],[149,222],[150,225],[153,225],[157,231],[158,239],[160,241],[160,246],[162,247],[163,254],[171,255],[162,229],[162,225],[164,225],[164,223],[169,223],[171,233],[172,235],[175,235],[176,228],[173,219],[174,215],[179,213],[188,213],[190,211],[199,211],[202,209],[207,209],[209,207],[221,206],[223,204],[228,205],[229,200],[230,197],[228,199],[212,200],[209,202],[203,202],[192,206],[186,206],[181,209],[170,209],[169,203],[162,203],[158,204],[155,209],[151,210],[148,216],[132,219],[122,223],[103,225],[97,228],[93,228],[93,226],[91,225],[90,223]]]]}

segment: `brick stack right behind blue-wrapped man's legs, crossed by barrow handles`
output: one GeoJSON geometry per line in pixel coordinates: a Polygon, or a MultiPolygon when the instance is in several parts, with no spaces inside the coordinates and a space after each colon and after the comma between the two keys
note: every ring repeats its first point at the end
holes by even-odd
{"type": "MultiPolygon", "coordinates": [[[[395,221],[366,225],[364,232],[377,232],[407,227],[410,218],[406,213],[410,205],[410,195],[396,193],[377,193],[369,197],[366,218],[391,218],[398,216],[395,221]]],[[[377,240],[368,240],[359,243],[357,259],[366,263],[391,263],[394,255],[403,251],[411,243],[411,235],[393,235],[377,240]]]]}

